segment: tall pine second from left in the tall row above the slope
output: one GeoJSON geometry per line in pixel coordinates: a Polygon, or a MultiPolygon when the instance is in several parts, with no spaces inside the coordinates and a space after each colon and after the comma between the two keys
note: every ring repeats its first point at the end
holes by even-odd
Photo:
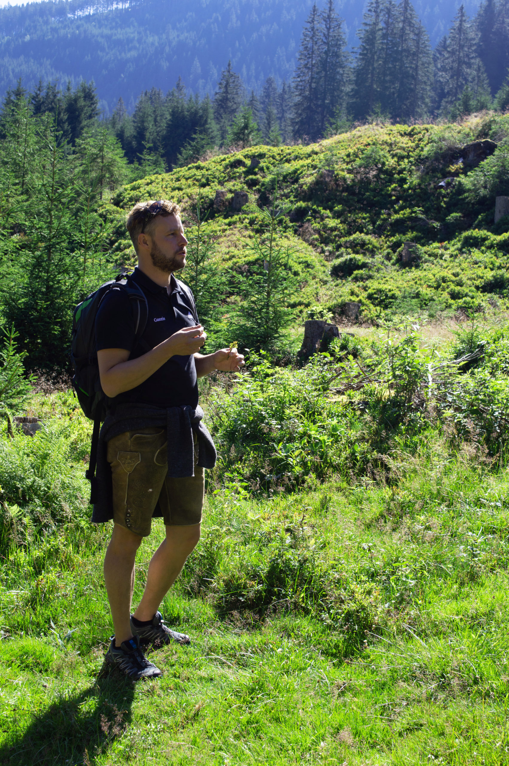
{"type": "Polygon", "coordinates": [[[320,133],[333,119],[338,106],[346,100],[347,59],[344,53],[342,22],[334,8],[334,0],[328,0],[320,12],[320,133]]]}

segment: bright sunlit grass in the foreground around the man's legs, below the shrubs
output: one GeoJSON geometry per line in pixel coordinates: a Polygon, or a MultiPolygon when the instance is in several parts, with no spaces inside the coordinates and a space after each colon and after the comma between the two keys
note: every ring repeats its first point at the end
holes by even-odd
{"type": "Polygon", "coordinates": [[[0,763],[505,763],[509,471],[434,431],[393,460],[390,487],[209,497],[154,682],[101,672],[107,528],[5,549],[0,763]]]}

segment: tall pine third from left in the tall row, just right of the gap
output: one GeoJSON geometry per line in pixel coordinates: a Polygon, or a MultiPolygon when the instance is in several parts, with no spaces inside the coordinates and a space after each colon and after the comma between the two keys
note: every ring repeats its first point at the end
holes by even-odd
{"type": "Polygon", "coordinates": [[[354,91],[352,107],[354,116],[363,118],[374,113],[380,103],[378,74],[382,56],[382,0],[370,0],[357,32],[361,44],[357,48],[354,65],[354,91]]]}

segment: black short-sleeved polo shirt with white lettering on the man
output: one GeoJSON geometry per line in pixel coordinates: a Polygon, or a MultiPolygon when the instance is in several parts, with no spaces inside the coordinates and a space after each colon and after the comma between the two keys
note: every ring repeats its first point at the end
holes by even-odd
{"type": "MultiPolygon", "coordinates": [[[[146,276],[138,267],[132,279],[145,293],[148,318],[142,340],[151,349],[183,327],[199,324],[193,293],[188,286],[171,274],[170,294],[146,276]]],[[[100,304],[96,316],[97,351],[102,349],[126,349],[129,359],[146,352],[135,339],[135,323],[132,301],[122,288],[109,290],[100,304]]],[[[141,385],[124,391],[112,402],[132,401],[155,404],[158,407],[178,407],[190,404],[196,408],[198,386],[194,356],[172,356],[141,385]]]]}

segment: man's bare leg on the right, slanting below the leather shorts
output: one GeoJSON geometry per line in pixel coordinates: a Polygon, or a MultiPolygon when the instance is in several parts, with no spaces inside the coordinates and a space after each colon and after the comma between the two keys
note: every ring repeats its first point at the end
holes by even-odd
{"type": "Polygon", "coordinates": [[[159,604],[180,575],[186,558],[196,547],[200,534],[201,524],[166,527],[166,537],[148,565],[145,591],[134,613],[136,620],[152,620],[159,604]]]}

